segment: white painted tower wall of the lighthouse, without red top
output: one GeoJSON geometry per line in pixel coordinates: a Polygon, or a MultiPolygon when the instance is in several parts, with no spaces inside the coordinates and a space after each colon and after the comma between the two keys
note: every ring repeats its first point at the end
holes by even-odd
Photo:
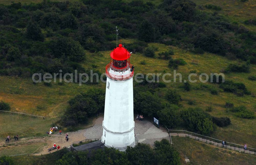
{"type": "MultiPolygon", "coordinates": [[[[111,74],[117,73],[110,70],[111,74]]],[[[114,81],[107,78],[102,142],[105,146],[124,149],[135,142],[133,120],[133,79],[114,81]],[[109,87],[108,87],[109,84],[109,87]]]]}

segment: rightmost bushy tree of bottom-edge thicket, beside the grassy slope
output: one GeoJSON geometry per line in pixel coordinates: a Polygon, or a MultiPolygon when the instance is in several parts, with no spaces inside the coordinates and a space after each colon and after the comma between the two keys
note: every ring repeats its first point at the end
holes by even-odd
{"type": "Polygon", "coordinates": [[[180,163],[180,155],[168,140],[162,139],[160,142],[155,141],[155,157],[157,164],[172,164],[178,165],[180,163]]]}

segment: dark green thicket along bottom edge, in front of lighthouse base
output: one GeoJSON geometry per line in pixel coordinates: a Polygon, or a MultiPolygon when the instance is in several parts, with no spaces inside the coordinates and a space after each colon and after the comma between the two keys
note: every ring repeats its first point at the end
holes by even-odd
{"type": "Polygon", "coordinates": [[[83,151],[69,152],[57,164],[180,164],[179,153],[166,139],[156,141],[154,149],[138,143],[135,147],[128,147],[125,152],[104,148],[89,155],[83,151]]]}

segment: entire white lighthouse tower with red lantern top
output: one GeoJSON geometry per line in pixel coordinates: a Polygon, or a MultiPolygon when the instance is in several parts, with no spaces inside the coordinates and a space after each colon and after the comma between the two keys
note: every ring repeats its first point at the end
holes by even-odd
{"type": "Polygon", "coordinates": [[[106,95],[103,134],[106,147],[125,150],[135,144],[133,119],[133,65],[131,53],[119,44],[106,65],[106,95]]]}

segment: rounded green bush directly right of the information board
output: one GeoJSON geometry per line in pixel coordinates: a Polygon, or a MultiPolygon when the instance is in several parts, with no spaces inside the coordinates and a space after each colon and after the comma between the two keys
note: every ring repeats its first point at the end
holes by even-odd
{"type": "Polygon", "coordinates": [[[159,121],[167,126],[167,128],[175,128],[180,122],[178,109],[179,107],[177,105],[172,104],[169,107],[159,110],[157,112],[159,121]]]}

